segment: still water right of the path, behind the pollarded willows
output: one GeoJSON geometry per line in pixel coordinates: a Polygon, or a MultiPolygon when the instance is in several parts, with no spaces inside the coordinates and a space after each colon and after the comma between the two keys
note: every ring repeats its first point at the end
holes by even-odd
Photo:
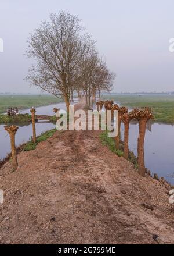
{"type": "MultiPolygon", "coordinates": [[[[129,127],[129,149],[137,156],[138,122],[129,127]]],[[[144,141],[146,167],[158,176],[174,184],[174,126],[164,123],[148,122],[144,141]]],[[[121,124],[121,137],[124,139],[124,125],[121,124]]]]}

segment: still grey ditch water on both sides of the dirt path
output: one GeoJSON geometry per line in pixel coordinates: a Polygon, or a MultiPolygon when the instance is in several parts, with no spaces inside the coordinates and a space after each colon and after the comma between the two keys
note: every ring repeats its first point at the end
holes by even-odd
{"type": "MultiPolygon", "coordinates": [[[[37,115],[53,115],[53,108],[66,109],[64,103],[41,106],[36,108],[37,115]]],[[[21,113],[30,113],[26,109],[21,113]]],[[[10,152],[10,140],[4,125],[0,125],[0,159],[6,157],[10,152]]],[[[16,133],[16,145],[27,142],[32,136],[32,124],[17,124],[19,130],[16,133]]],[[[37,136],[46,130],[54,129],[53,123],[36,123],[37,136]]],[[[139,125],[137,122],[131,122],[129,129],[129,149],[137,155],[137,137],[139,125]]],[[[121,136],[124,138],[124,125],[121,124],[121,136]]],[[[144,143],[145,163],[151,173],[157,173],[159,177],[164,177],[168,182],[174,184],[174,126],[164,123],[149,122],[146,129],[144,143]]]]}

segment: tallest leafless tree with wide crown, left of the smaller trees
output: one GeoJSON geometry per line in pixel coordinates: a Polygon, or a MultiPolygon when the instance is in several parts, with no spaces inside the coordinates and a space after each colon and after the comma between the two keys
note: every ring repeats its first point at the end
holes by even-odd
{"type": "Polygon", "coordinates": [[[35,64],[26,79],[34,86],[61,97],[70,105],[75,90],[79,62],[93,47],[89,35],[82,34],[81,21],[70,13],[51,14],[50,22],[42,22],[28,38],[26,55],[35,64]]]}

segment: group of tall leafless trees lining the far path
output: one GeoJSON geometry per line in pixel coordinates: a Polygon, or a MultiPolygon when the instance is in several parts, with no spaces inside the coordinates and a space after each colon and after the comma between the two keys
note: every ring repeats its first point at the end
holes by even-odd
{"type": "Polygon", "coordinates": [[[61,97],[67,110],[73,93],[85,95],[89,108],[96,95],[111,91],[115,74],[99,56],[95,41],[84,33],[81,20],[70,13],[51,14],[28,38],[26,51],[34,64],[27,81],[42,90],[61,97]]]}

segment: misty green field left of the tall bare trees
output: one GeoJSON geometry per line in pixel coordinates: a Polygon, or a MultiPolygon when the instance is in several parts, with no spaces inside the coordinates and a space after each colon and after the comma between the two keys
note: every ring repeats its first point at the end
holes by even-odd
{"type": "Polygon", "coordinates": [[[0,95],[0,113],[6,112],[10,107],[20,110],[59,102],[61,100],[53,95],[0,95]]]}

